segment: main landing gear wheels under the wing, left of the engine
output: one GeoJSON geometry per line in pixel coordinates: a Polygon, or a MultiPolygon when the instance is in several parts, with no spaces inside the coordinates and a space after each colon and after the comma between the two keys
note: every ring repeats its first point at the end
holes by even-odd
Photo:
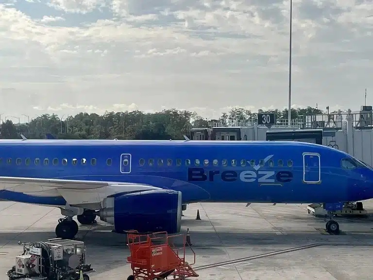
{"type": "MultiPolygon", "coordinates": [[[[96,213],[94,210],[85,210],[83,214],[77,215],[78,222],[82,225],[91,225],[96,223],[96,213]]],[[[79,226],[72,217],[65,217],[58,220],[55,229],[57,238],[73,239],[78,233],[79,226]]]]}

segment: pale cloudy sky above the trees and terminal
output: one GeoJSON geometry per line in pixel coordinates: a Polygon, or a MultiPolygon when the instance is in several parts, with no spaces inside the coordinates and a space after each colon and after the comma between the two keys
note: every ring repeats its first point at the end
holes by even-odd
{"type": "MultiPolygon", "coordinates": [[[[283,109],[289,4],[0,0],[1,119],[283,109]]],[[[373,105],[373,2],[293,0],[292,18],[291,105],[355,111],[365,88],[373,105]]]]}

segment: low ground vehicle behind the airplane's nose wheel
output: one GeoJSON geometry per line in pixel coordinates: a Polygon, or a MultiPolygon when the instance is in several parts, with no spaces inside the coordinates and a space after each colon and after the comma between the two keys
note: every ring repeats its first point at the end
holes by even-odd
{"type": "MultiPolygon", "coordinates": [[[[312,203],[307,206],[308,214],[317,216],[328,216],[328,211],[325,209],[322,203],[312,203]]],[[[336,210],[334,215],[343,216],[366,216],[368,211],[363,208],[362,202],[345,202],[343,203],[343,208],[341,210],[336,210]]]]}

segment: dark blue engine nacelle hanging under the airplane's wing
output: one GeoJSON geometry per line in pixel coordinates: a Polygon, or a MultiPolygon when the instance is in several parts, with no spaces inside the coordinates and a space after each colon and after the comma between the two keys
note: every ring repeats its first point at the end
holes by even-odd
{"type": "Polygon", "coordinates": [[[151,190],[116,194],[104,199],[100,219],[114,225],[117,232],[140,233],[181,229],[182,194],[172,190],[151,190]]]}

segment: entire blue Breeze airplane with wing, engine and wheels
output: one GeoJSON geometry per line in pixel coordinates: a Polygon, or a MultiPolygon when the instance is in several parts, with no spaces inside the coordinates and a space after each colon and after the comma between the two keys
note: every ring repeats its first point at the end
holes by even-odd
{"type": "MultiPolygon", "coordinates": [[[[1,140],[0,199],[58,207],[57,237],[79,223],[179,232],[195,202],[338,204],[373,198],[373,169],[290,141],[1,140]]],[[[332,219],[328,232],[339,233],[332,219]]]]}

